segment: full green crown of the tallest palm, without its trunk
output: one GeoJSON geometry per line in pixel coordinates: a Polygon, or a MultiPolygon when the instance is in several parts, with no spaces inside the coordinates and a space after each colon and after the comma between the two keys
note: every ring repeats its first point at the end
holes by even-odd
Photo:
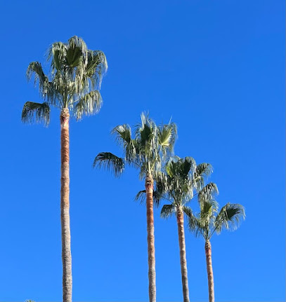
{"type": "Polygon", "coordinates": [[[108,63],[100,50],[89,50],[84,40],[73,36],[67,43],[56,42],[48,49],[47,60],[51,72],[47,76],[40,62],[31,62],[27,79],[34,76],[44,103],[26,102],[22,110],[23,122],[50,121],[50,107],[67,108],[79,120],[96,114],[101,107],[100,83],[108,63]]]}

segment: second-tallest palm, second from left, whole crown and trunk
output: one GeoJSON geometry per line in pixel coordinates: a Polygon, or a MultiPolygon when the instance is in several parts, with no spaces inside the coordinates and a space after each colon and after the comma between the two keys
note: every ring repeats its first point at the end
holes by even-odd
{"type": "Polygon", "coordinates": [[[160,177],[162,162],[173,151],[176,125],[169,123],[157,126],[148,115],[141,114],[141,123],[136,126],[134,139],[132,139],[130,126],[126,124],[118,125],[112,133],[122,146],[124,157],[119,158],[110,152],[98,153],[93,166],[108,167],[118,177],[124,170],[124,166],[130,165],[138,168],[140,179],[145,179],[149,300],[155,302],[154,179],[160,177]]]}

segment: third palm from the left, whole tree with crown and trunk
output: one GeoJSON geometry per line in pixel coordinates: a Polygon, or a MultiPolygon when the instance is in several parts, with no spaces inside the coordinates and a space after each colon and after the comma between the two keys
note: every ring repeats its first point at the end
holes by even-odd
{"type": "MultiPolygon", "coordinates": [[[[212,172],[212,166],[208,163],[196,165],[191,157],[171,158],[165,166],[164,177],[156,181],[155,199],[168,200],[171,204],[163,205],[161,217],[167,218],[176,214],[178,225],[178,244],[180,249],[181,277],[183,286],[183,301],[189,302],[188,270],[186,260],[186,242],[183,213],[190,212],[187,203],[193,198],[194,189],[200,189],[204,183],[204,177],[212,172]]],[[[141,193],[138,193],[137,198],[141,193]]]]}

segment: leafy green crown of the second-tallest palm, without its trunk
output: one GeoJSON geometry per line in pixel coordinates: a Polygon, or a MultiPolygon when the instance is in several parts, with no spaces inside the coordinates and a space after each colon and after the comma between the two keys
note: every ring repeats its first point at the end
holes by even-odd
{"type": "Polygon", "coordinates": [[[131,127],[118,125],[112,130],[117,142],[122,146],[124,157],[119,158],[110,152],[98,153],[93,166],[108,167],[118,177],[125,165],[139,169],[139,177],[150,175],[154,179],[160,174],[162,162],[174,149],[176,124],[157,126],[146,114],[141,114],[141,123],[136,125],[132,138],[131,127]]]}

